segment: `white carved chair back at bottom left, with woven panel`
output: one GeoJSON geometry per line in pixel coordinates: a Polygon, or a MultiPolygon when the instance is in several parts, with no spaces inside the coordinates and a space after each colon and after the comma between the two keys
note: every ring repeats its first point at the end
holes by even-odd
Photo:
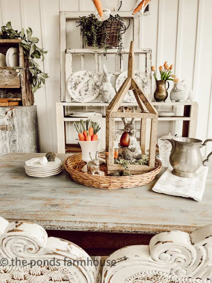
{"type": "Polygon", "coordinates": [[[96,283],[98,275],[99,265],[79,246],[48,238],[37,224],[0,217],[1,283],[96,283]]]}

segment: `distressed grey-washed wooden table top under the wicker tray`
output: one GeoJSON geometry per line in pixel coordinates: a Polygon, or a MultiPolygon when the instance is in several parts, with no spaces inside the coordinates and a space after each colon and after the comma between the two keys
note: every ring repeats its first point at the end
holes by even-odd
{"type": "MultiPolygon", "coordinates": [[[[75,183],[63,170],[56,176],[26,175],[26,160],[42,153],[0,157],[0,215],[9,221],[34,221],[45,229],[155,234],[191,231],[212,223],[212,162],[201,202],[152,191],[146,186],[100,190],[75,183]]],[[[57,154],[62,161],[68,154],[57,154]]]]}

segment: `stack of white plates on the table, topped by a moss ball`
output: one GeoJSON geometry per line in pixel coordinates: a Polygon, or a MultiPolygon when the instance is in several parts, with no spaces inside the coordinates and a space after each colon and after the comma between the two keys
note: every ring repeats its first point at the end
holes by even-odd
{"type": "Polygon", "coordinates": [[[57,175],[63,171],[62,162],[59,158],[48,162],[46,165],[40,164],[41,158],[32,158],[25,162],[26,174],[32,177],[49,177],[57,175]]]}

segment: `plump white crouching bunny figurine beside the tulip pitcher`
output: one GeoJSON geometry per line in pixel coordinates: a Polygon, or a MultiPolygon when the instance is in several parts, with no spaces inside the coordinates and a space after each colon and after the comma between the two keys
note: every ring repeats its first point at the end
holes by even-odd
{"type": "Polygon", "coordinates": [[[192,101],[192,97],[193,91],[186,80],[176,82],[170,92],[171,102],[192,101]]]}

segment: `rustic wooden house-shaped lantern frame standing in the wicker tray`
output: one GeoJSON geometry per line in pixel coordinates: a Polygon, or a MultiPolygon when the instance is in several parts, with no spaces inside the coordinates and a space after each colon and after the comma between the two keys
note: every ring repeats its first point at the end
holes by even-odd
{"type": "Polygon", "coordinates": [[[130,44],[130,52],[128,57],[128,78],[124,81],[119,91],[108,105],[106,109],[106,152],[109,152],[109,156],[106,158],[107,172],[110,174],[114,171],[123,170],[123,166],[120,164],[114,164],[114,125],[115,118],[140,118],[140,146],[142,154],[145,154],[145,141],[146,141],[146,119],[151,119],[151,132],[149,142],[149,163],[148,165],[129,165],[129,171],[144,172],[151,171],[155,168],[155,150],[156,150],[156,138],[157,138],[157,125],[158,125],[158,112],[151,104],[149,99],[140,89],[138,83],[134,79],[134,48],[133,41],[130,44]],[[121,112],[119,109],[123,98],[127,94],[128,90],[133,90],[136,101],[140,107],[140,111],[121,112]],[[147,110],[143,112],[144,110],[147,110]]]}

